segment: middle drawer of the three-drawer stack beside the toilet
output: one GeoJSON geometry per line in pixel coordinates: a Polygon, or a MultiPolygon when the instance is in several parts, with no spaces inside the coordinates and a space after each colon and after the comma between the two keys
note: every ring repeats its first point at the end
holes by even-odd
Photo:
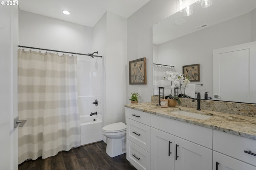
{"type": "Polygon", "coordinates": [[[126,138],[150,152],[150,126],[132,119],[126,120],[126,138]]]}

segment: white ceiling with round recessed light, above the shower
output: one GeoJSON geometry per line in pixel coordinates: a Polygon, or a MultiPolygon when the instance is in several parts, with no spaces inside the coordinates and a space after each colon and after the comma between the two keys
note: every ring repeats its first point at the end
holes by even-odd
{"type": "Polygon", "coordinates": [[[150,0],[20,0],[20,10],[48,16],[88,27],[106,11],[128,18],[150,0]],[[64,15],[68,10],[70,15],[64,15]]]}

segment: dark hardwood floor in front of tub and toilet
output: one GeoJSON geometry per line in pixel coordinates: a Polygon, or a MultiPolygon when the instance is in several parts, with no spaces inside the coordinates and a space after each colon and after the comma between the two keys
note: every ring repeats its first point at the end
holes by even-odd
{"type": "Polygon", "coordinates": [[[136,170],[126,154],[110,158],[101,141],[90,145],[59,152],[46,159],[28,160],[19,165],[19,170],[136,170]]]}

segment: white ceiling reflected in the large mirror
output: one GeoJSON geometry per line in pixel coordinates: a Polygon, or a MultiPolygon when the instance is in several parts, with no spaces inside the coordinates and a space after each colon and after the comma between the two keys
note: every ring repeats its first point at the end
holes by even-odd
{"type": "Polygon", "coordinates": [[[247,14],[256,8],[256,0],[212,0],[212,6],[201,8],[200,3],[193,4],[194,13],[183,16],[177,12],[153,26],[153,43],[161,43],[176,39],[189,33],[199,31],[196,27],[207,24],[209,27],[217,23],[247,14]],[[186,20],[182,25],[172,25],[179,19],[186,20]]]}

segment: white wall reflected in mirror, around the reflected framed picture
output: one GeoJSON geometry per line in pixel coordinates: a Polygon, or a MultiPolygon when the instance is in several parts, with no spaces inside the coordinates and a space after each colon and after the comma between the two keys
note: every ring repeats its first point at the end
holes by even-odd
{"type": "Polygon", "coordinates": [[[213,49],[250,42],[250,14],[224,21],[158,45],[158,63],[174,65],[182,73],[182,66],[200,64],[200,82],[196,91],[203,94],[209,91],[213,96],[213,49]]]}

